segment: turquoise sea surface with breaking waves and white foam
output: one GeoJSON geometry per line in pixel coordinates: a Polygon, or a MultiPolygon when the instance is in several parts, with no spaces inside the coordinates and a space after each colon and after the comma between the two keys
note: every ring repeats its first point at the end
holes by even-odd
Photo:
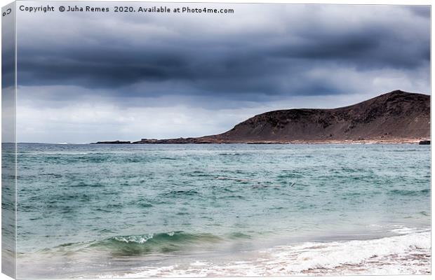
{"type": "Polygon", "coordinates": [[[18,278],[428,274],[430,146],[18,145],[18,278]]]}

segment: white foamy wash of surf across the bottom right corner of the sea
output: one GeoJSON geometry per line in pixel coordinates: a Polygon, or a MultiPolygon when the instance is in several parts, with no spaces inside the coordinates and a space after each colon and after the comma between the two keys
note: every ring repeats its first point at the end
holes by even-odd
{"type": "Polygon", "coordinates": [[[381,239],[305,242],[276,246],[232,262],[141,267],[124,277],[429,274],[429,230],[381,239]]]}

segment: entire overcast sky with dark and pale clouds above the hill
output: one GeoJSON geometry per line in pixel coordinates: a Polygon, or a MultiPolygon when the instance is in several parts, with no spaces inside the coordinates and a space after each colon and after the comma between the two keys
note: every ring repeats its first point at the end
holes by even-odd
{"type": "Polygon", "coordinates": [[[98,6],[111,12],[18,12],[18,141],[198,137],[265,111],[430,94],[429,6],[98,6]]]}

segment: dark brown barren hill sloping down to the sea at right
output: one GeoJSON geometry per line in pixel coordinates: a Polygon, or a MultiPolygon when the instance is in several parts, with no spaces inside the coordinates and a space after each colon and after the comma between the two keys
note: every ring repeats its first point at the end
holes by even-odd
{"type": "Polygon", "coordinates": [[[416,142],[430,139],[430,97],[395,90],[337,109],[262,113],[222,134],[196,138],[142,139],[133,144],[416,142]]]}

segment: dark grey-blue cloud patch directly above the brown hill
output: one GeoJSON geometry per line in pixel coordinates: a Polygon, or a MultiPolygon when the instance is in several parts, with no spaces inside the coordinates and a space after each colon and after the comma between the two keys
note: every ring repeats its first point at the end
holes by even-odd
{"type": "MultiPolygon", "coordinates": [[[[313,34],[307,42],[284,45],[277,52],[283,57],[333,61],[360,69],[412,70],[429,62],[429,40],[412,41],[391,36],[391,30],[369,26],[349,34],[313,34]]],[[[309,63],[305,62],[305,63],[309,63]]]]}

